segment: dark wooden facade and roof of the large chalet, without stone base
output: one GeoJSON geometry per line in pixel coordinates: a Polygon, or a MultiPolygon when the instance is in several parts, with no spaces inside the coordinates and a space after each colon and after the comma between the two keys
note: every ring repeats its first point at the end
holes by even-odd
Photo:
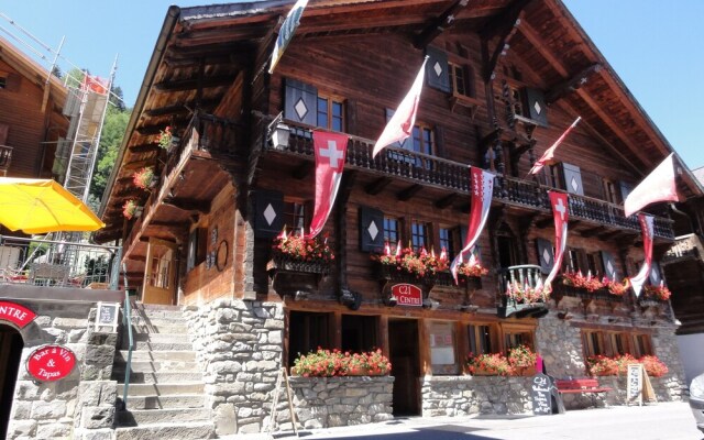
{"type": "MultiPolygon", "coordinates": [[[[258,6],[168,11],[101,209],[108,227],[98,238],[123,240],[132,286],[153,286],[155,278],[145,273],[170,267],[169,282],[162,284],[170,286],[167,302],[284,301],[285,353],[292,354],[314,342],[375,345],[389,353],[409,331],[417,332],[419,359],[399,360],[410,362],[409,371],[417,366],[409,373],[417,377],[438,372],[429,346],[433,326],[448,324],[454,334],[458,371],[480,329],[490,329],[486,343],[494,350],[534,343],[537,315],[498,316],[505,289],[499,274],[540,265],[544,243],[554,241],[550,187],[571,197],[566,264],[601,276],[609,262],[619,279],[637,272],[640,230],[635,217],[624,216],[623,191],[672,148],[560,1],[314,0],[271,76],[266,61],[290,2],[258,6]],[[372,158],[388,109],[406,94],[425,55],[430,58],[418,140],[408,141],[415,148],[389,148],[372,158]],[[305,108],[296,114],[299,101],[305,108]],[[337,257],[327,276],[299,290],[307,297],[300,300],[295,289],[276,292],[278,273],[273,277],[267,263],[278,231],[262,226],[260,216],[268,207],[277,216],[302,209],[309,221],[315,195],[310,130],[330,123],[332,118],[322,116],[336,111],[340,131],[351,135],[340,194],[324,229],[337,257]],[[292,128],[284,148],[270,140],[268,127],[278,113],[292,128]],[[560,146],[560,163],[528,178],[532,162],[576,116],[583,122],[560,146]],[[167,125],[179,138],[168,151],[156,144],[167,125]],[[427,308],[388,307],[385,280],[362,243],[364,220],[367,215],[381,219],[381,234],[384,220],[394,221],[403,243],[422,230],[427,248],[436,252],[442,238],[451,237],[457,251],[470,208],[468,165],[498,174],[479,241],[490,274],[472,286],[426,286],[433,300],[427,308]],[[144,166],[160,175],[150,191],[131,184],[134,170],[144,166]],[[138,219],[123,218],[128,199],[144,207],[138,219]],[[173,243],[174,255],[160,250],[163,241],[173,243]],[[349,301],[360,297],[361,305],[349,301]],[[365,317],[373,317],[373,331],[360,337],[369,327],[365,317]],[[399,323],[405,319],[418,326],[399,323]]],[[[690,198],[702,193],[686,169],[679,189],[690,198]]],[[[659,258],[675,234],[668,211],[653,209],[659,258]]],[[[372,251],[382,248],[377,243],[372,251]]],[[[650,351],[637,348],[637,341],[651,329],[624,323],[634,314],[670,321],[667,304],[644,306],[630,295],[585,298],[560,290],[549,308],[564,319],[575,317],[573,324],[584,334],[600,332],[606,345],[608,334],[627,336],[627,351],[639,354],[650,351]]]]}

